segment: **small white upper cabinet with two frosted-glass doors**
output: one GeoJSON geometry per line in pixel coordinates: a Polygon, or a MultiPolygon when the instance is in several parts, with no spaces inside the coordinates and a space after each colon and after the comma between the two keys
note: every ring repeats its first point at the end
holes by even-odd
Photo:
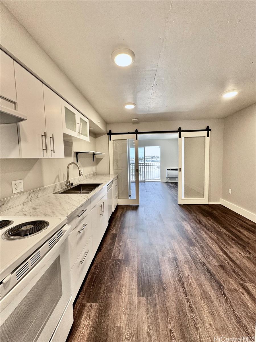
{"type": "Polygon", "coordinates": [[[89,137],[89,120],[79,113],[66,101],[61,99],[62,108],[62,126],[64,137],[67,140],[76,140],[73,138],[90,141],[89,137]]]}

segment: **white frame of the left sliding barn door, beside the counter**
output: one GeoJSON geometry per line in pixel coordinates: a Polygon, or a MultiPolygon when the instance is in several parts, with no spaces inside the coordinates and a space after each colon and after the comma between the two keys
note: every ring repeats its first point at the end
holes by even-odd
{"type": "MultiPolygon", "coordinates": [[[[134,139],[134,152],[135,152],[135,189],[136,189],[136,198],[128,199],[128,198],[119,198],[118,204],[120,205],[129,205],[129,204],[140,204],[140,189],[139,189],[139,141],[136,140],[136,134],[116,134],[111,135],[111,140],[109,141],[109,163],[110,163],[110,173],[114,174],[114,160],[113,160],[113,141],[114,140],[128,140],[134,139]]],[[[127,167],[129,165],[129,160],[127,160],[127,167]]],[[[130,172],[130,170],[128,170],[130,172]]],[[[128,182],[129,180],[127,180],[128,182]]]]}

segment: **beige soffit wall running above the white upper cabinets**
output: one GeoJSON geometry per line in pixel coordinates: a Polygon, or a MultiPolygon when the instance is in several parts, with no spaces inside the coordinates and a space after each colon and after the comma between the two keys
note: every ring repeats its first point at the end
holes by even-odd
{"type": "Polygon", "coordinates": [[[80,110],[103,131],[106,131],[106,122],[102,117],[3,3],[1,3],[1,48],[80,110]]]}

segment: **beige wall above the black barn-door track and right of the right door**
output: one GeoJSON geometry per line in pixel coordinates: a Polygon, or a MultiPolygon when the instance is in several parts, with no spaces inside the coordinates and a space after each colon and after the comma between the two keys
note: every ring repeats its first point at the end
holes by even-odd
{"type": "MultiPolygon", "coordinates": [[[[219,202],[222,191],[222,151],[223,151],[223,123],[224,119],[179,120],[132,123],[110,123],[108,131],[134,132],[165,131],[181,129],[205,129],[210,126],[210,169],[209,169],[209,201],[219,202]]],[[[105,150],[108,146],[105,145],[105,150]]],[[[105,152],[105,151],[104,151],[105,152]]]]}

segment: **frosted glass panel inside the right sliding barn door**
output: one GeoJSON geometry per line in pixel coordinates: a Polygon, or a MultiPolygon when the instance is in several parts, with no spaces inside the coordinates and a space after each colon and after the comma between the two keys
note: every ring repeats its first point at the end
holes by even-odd
{"type": "Polygon", "coordinates": [[[184,137],[183,198],[204,197],[205,137],[184,137]]]}

